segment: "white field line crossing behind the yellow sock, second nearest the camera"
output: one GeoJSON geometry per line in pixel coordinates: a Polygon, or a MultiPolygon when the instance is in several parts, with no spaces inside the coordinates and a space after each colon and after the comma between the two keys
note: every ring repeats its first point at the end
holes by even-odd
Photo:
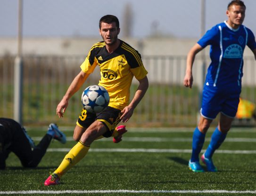
{"type": "MultiPolygon", "coordinates": [[[[49,148],[48,152],[68,152],[69,148],[49,148]]],[[[202,150],[204,152],[205,150],[202,150]]],[[[90,152],[191,153],[191,149],[90,149],[90,152]]],[[[219,154],[256,154],[256,150],[216,150],[219,154]]]]}

